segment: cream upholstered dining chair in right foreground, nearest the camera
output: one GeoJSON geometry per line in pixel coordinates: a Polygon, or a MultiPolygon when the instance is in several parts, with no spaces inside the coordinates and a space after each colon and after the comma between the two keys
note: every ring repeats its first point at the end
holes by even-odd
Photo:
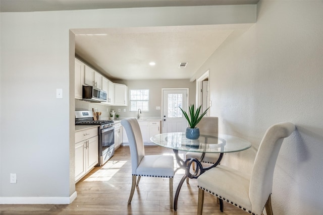
{"type": "Polygon", "coordinates": [[[198,208],[202,214],[204,191],[220,200],[227,201],[251,214],[262,214],[264,207],[267,215],[273,214],[271,194],[276,160],[283,139],[295,130],[295,125],[282,122],[272,125],[265,132],[252,168],[251,174],[219,165],[197,178],[198,208]]]}

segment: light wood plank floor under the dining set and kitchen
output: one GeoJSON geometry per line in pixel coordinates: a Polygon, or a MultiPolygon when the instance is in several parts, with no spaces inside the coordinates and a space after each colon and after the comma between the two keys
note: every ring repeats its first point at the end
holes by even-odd
{"type": "MultiPolygon", "coordinates": [[[[145,147],[145,154],[169,154],[173,151],[157,146],[145,147]]],[[[182,157],[184,154],[181,155],[182,157]]],[[[176,163],[176,162],[175,162],[176,163]]],[[[182,170],[174,177],[174,195],[183,176],[182,170]]],[[[120,147],[103,166],[95,167],[76,184],[77,198],[69,205],[0,205],[5,214],[183,214],[197,212],[197,181],[184,182],[178,200],[178,209],[169,204],[169,179],[142,177],[135,190],[132,202],[127,204],[131,188],[131,162],[129,147],[120,147]]],[[[249,214],[224,202],[220,212],[214,196],[205,193],[203,214],[246,215],[249,214]]]]}

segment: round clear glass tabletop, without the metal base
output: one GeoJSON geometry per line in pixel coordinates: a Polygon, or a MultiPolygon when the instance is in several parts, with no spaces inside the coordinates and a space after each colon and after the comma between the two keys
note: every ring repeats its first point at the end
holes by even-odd
{"type": "Polygon", "coordinates": [[[161,147],[201,153],[239,152],[251,147],[249,141],[226,134],[200,134],[198,139],[187,139],[185,132],[172,132],[154,135],[150,140],[161,147]]]}

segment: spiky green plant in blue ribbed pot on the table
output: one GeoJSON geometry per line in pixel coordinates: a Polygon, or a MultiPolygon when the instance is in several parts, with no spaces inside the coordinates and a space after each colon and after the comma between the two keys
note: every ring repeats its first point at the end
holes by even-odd
{"type": "Polygon", "coordinates": [[[188,121],[189,127],[186,128],[186,138],[188,139],[198,139],[198,137],[200,136],[200,130],[198,127],[196,127],[196,125],[199,123],[199,121],[201,121],[202,117],[206,114],[207,110],[209,109],[209,107],[200,114],[202,105],[199,106],[196,111],[194,109],[194,104],[191,104],[189,106],[189,115],[186,113],[186,111],[184,111],[181,107],[179,107],[181,109],[181,111],[183,112],[186,120],[188,121]]]}

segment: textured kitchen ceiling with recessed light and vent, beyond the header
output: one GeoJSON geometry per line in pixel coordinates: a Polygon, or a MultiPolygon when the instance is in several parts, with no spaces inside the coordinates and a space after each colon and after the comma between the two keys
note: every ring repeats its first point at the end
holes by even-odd
{"type": "Polygon", "coordinates": [[[140,33],[107,30],[77,35],[75,49],[78,57],[112,79],[189,79],[232,31],[212,26],[167,27],[167,31],[149,27],[140,33]],[[151,61],[156,64],[150,66],[151,61]],[[188,64],[179,68],[180,62],[188,64]]]}

